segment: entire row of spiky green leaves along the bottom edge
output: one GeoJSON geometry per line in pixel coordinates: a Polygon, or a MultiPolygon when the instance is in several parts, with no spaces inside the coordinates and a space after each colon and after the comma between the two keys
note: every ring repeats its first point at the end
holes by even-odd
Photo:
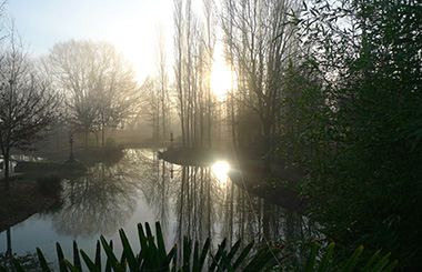
{"type": "MultiPolygon", "coordinates": [[[[90,259],[83,250],[78,249],[77,242],[73,242],[73,263],[64,258],[60,243],[57,243],[57,255],[59,260],[60,272],[79,272],[82,271],[81,258],[89,271],[262,271],[265,269],[281,270],[282,259],[285,255],[281,254],[282,248],[271,245],[270,243],[252,252],[253,241],[245,248],[240,250],[241,242],[238,240],[232,246],[227,246],[227,239],[218,245],[215,252],[211,252],[210,239],[207,239],[202,248],[199,242],[192,243],[191,240],[184,238],[182,255],[177,256],[177,245],[169,252],[164,246],[164,239],[162,235],[161,225],[155,223],[157,238],[152,235],[151,228],[145,223],[145,229],[142,224],[138,224],[138,234],[141,250],[134,253],[130,242],[123,230],[119,231],[120,240],[122,243],[123,252],[118,258],[113,252],[112,242],[108,242],[104,236],[100,236],[97,242],[97,250],[94,259],[90,259]],[[101,262],[101,245],[107,255],[105,268],[101,262]],[[178,260],[181,263],[178,264],[178,260]]],[[[315,242],[312,245],[310,256],[308,258],[302,271],[338,271],[336,266],[332,265],[332,253],[334,251],[334,243],[331,243],[320,261],[316,262],[319,244],[315,242]]],[[[356,268],[360,255],[362,254],[363,246],[360,246],[354,254],[344,264],[340,271],[352,271],[356,268]]],[[[40,268],[43,272],[51,271],[49,263],[42,251],[37,248],[37,255],[40,268]]],[[[386,254],[380,256],[378,251],[371,260],[363,266],[362,271],[392,271],[398,261],[390,262],[386,254]],[[380,259],[380,260],[378,260],[380,259]]],[[[26,270],[21,263],[12,258],[12,263],[18,272],[26,270]]],[[[0,272],[8,270],[0,265],[0,272]]]]}

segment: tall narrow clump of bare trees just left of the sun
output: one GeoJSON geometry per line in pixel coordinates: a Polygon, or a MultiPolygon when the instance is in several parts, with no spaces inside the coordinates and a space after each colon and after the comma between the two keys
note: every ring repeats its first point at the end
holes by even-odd
{"type": "Polygon", "coordinates": [[[204,13],[193,12],[192,1],[174,1],[175,85],[184,147],[211,147],[214,94],[210,73],[215,43],[213,3],[203,2],[204,13]]]}

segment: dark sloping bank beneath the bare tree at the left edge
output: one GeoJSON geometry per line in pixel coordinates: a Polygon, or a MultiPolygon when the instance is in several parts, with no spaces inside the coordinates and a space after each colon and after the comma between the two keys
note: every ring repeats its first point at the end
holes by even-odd
{"type": "Polygon", "coordinates": [[[34,181],[14,180],[10,192],[0,182],[0,232],[54,204],[57,197],[42,194],[34,181]]]}

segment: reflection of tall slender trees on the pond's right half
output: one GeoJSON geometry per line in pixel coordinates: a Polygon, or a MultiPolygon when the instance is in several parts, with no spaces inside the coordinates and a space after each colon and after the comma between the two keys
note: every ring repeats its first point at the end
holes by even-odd
{"type": "Polygon", "coordinates": [[[252,197],[231,182],[214,179],[210,168],[182,167],[174,177],[175,243],[183,235],[201,243],[212,238],[215,243],[228,238],[229,243],[242,239],[264,243],[283,243],[312,236],[312,224],[294,212],[252,197]]]}

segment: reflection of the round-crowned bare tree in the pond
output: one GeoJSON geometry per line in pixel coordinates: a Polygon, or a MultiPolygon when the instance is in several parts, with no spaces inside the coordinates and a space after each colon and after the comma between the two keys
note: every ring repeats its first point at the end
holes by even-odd
{"type": "MultiPolygon", "coordinates": [[[[123,158],[124,159],[124,158],[123,158]]],[[[135,208],[138,182],[121,163],[98,163],[88,175],[66,182],[63,208],[51,216],[58,233],[71,236],[115,233],[135,208]]]]}

